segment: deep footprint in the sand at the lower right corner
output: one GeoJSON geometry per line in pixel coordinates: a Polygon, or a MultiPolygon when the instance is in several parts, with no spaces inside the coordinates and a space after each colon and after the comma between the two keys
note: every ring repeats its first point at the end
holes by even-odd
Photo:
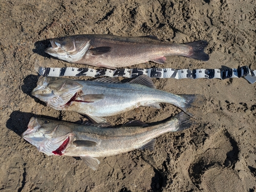
{"type": "Polygon", "coordinates": [[[238,146],[228,132],[220,131],[203,147],[206,149],[189,166],[191,181],[201,189],[211,191],[245,191],[234,163],[238,159],[238,146]]]}

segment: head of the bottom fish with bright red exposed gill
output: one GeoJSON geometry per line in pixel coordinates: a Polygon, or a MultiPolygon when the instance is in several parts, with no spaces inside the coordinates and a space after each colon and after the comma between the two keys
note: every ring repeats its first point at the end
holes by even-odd
{"type": "Polygon", "coordinates": [[[58,121],[32,117],[22,138],[46,155],[63,155],[74,134],[58,121]]]}

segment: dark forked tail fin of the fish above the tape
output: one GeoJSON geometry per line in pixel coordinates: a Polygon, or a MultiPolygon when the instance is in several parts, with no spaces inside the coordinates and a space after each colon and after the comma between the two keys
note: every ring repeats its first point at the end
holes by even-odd
{"type": "Polygon", "coordinates": [[[208,45],[207,41],[197,40],[197,41],[193,41],[193,42],[187,42],[184,45],[189,47],[189,53],[184,56],[193,58],[193,59],[202,60],[202,61],[209,60],[209,55],[204,52],[204,49],[208,45]]]}

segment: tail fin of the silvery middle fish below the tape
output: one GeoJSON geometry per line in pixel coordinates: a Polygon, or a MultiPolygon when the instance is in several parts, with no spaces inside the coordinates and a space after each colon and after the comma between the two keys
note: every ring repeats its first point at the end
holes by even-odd
{"type": "Polygon", "coordinates": [[[191,113],[187,112],[187,109],[195,109],[195,108],[200,108],[203,106],[205,103],[205,96],[200,95],[200,94],[195,94],[195,95],[179,95],[181,96],[185,101],[183,102],[183,106],[179,107],[182,111],[184,111],[186,114],[190,115],[193,117],[194,115],[191,113]]]}

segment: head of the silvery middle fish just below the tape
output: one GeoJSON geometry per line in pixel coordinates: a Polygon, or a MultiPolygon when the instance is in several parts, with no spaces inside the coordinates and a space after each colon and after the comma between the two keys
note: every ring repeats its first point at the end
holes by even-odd
{"type": "Polygon", "coordinates": [[[81,89],[82,85],[71,79],[40,76],[31,94],[44,101],[47,106],[62,110],[71,104],[81,89]]]}

